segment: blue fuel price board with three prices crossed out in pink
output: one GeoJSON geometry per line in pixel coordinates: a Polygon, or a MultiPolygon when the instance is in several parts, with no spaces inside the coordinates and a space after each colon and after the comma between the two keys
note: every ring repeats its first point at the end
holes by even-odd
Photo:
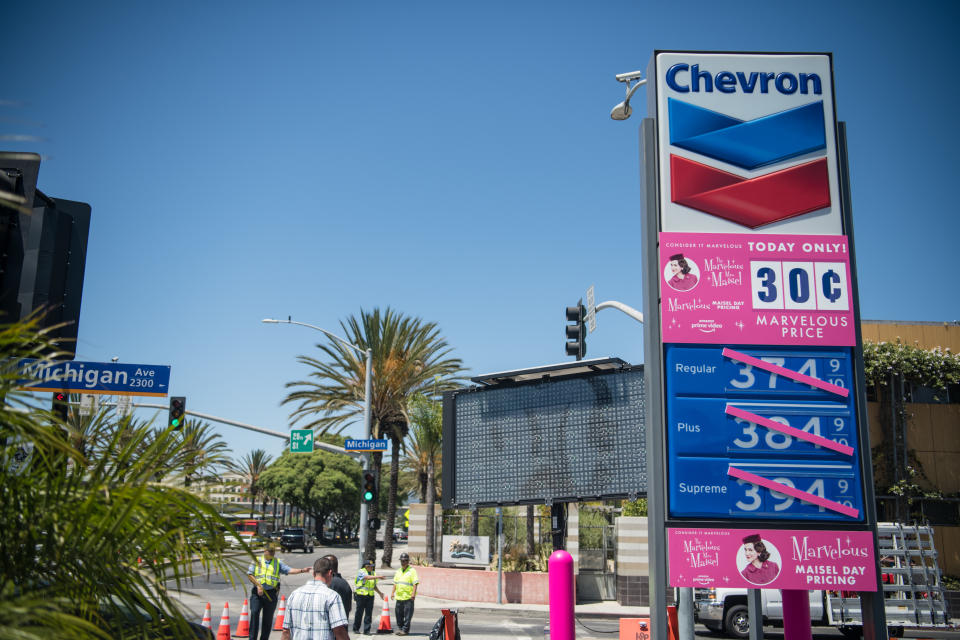
{"type": "Polygon", "coordinates": [[[851,360],[667,345],[670,516],[862,521],[851,360]]]}

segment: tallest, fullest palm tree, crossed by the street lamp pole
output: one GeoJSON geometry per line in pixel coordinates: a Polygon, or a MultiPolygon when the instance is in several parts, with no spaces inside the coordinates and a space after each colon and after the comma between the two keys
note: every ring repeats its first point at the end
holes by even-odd
{"type": "MultiPolygon", "coordinates": [[[[407,400],[434,384],[442,392],[456,386],[462,371],[459,358],[450,356],[452,349],[440,335],[436,323],[424,322],[396,312],[389,307],[381,311],[360,310],[359,317],[341,321],[349,342],[373,353],[373,392],[370,400],[371,429],[375,438],[390,438],[390,484],[388,490],[386,531],[392,532],[397,511],[397,474],[400,470],[400,448],[407,436],[407,400]]],[[[297,360],[311,368],[308,380],[287,383],[295,389],[284,403],[296,404],[290,414],[292,422],[319,433],[340,433],[348,424],[363,415],[366,364],[353,349],[339,342],[317,345],[320,358],[299,356],[297,360]]],[[[380,474],[383,454],[373,454],[373,471],[380,474]]],[[[371,518],[379,515],[379,505],[370,505],[371,518]]],[[[363,526],[365,523],[361,523],[363,526]]],[[[370,536],[364,555],[373,558],[376,540],[370,536]]],[[[393,536],[385,535],[383,565],[389,567],[393,555],[393,536]]]]}

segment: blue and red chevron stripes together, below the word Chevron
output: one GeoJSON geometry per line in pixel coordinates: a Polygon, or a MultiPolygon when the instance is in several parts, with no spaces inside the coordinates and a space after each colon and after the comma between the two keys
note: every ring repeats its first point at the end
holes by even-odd
{"type": "MultiPolygon", "coordinates": [[[[826,149],[823,101],[743,121],[670,98],[670,144],[743,169],[826,149]]],[[[830,206],[826,158],[754,178],[670,156],[671,199],[756,229],[830,206]]]]}

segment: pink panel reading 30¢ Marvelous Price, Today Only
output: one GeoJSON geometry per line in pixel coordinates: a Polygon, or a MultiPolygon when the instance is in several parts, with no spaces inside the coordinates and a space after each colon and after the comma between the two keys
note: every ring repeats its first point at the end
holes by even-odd
{"type": "Polygon", "coordinates": [[[660,234],[665,343],[856,343],[846,236],[660,234]]]}

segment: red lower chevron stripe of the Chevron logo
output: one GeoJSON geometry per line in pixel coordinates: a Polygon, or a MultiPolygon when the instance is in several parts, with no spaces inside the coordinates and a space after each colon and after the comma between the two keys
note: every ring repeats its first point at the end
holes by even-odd
{"type": "Polygon", "coordinates": [[[671,199],[751,229],[830,206],[827,159],[756,178],[670,156],[671,199]]]}

